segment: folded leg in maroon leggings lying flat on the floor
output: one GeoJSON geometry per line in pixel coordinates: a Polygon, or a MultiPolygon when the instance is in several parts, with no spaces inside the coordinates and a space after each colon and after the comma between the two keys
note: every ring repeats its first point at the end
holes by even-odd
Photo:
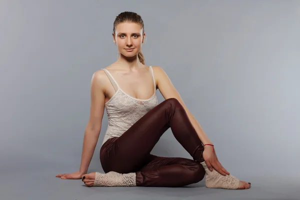
{"type": "Polygon", "coordinates": [[[178,187],[199,182],[204,175],[197,161],[151,155],[150,161],[136,172],[136,186],[178,187]]]}

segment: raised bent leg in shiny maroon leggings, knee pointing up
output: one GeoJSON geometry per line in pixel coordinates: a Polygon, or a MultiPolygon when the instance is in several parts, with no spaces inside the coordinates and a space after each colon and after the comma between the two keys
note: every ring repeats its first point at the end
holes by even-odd
{"type": "Polygon", "coordinates": [[[192,126],[184,107],[169,98],[149,110],[108,147],[101,148],[100,160],[105,172],[129,173],[138,171],[160,136],[168,129],[196,161],[204,161],[203,145],[192,126]]]}

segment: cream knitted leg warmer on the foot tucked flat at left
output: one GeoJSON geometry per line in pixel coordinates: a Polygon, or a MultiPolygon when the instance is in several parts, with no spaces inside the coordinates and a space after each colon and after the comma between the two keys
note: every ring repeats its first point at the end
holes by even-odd
{"type": "Polygon", "coordinates": [[[96,172],[93,186],[136,186],[136,173],[96,172]]]}

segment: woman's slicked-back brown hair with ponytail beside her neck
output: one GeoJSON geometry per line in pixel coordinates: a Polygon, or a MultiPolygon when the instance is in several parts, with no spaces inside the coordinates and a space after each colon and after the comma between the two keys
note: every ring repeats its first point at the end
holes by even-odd
{"type": "MultiPolygon", "coordinates": [[[[135,12],[130,12],[130,11],[124,11],[119,13],[119,15],[117,15],[115,17],[115,20],[113,22],[113,34],[115,34],[115,27],[117,24],[122,23],[122,22],[133,22],[133,23],[138,23],[140,24],[140,27],[142,28],[142,34],[144,33],[144,24],[143,24],[143,20],[141,19],[141,16],[138,15],[135,12]]],[[[141,50],[138,52],[137,54],[139,61],[142,64],[145,64],[145,58],[144,55],[142,54],[141,50]]]]}

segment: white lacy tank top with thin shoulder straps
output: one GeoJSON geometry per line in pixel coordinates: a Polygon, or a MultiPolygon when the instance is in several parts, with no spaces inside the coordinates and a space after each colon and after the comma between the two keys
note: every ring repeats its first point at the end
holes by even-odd
{"type": "Polygon", "coordinates": [[[134,98],[124,92],[110,72],[102,68],[115,90],[115,93],[105,103],[108,126],[102,144],[111,137],[121,136],[139,118],[158,104],[153,69],[152,66],[149,67],[154,82],[154,93],[148,99],[134,98]]]}

